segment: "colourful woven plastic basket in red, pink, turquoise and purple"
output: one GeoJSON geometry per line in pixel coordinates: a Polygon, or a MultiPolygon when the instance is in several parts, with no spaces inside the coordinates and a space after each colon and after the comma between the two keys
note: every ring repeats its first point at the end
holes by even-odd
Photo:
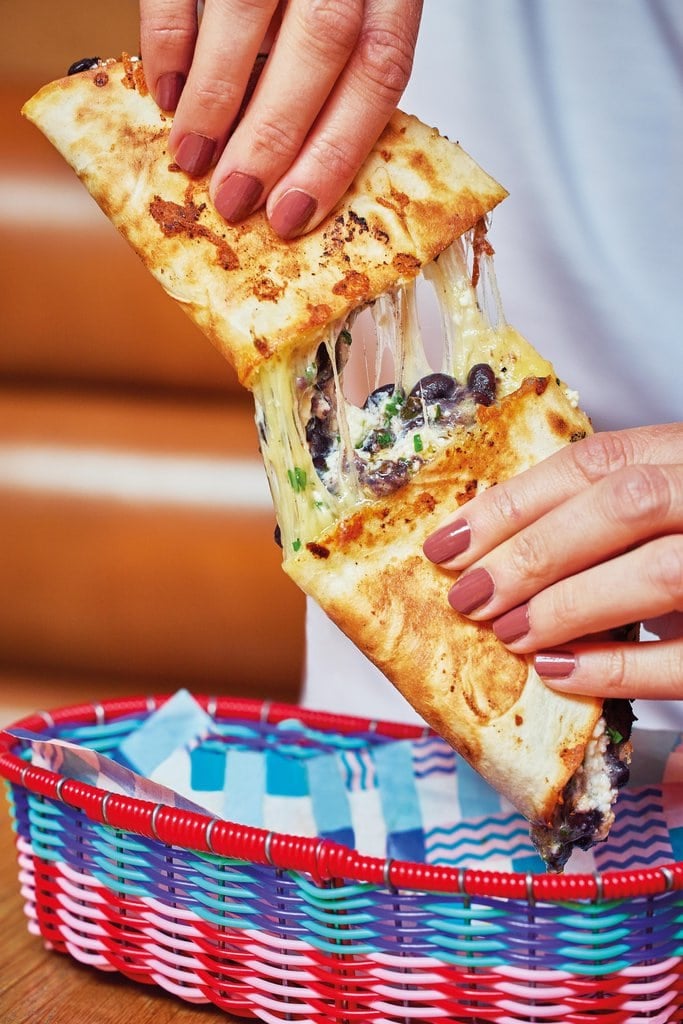
{"type": "MultiPolygon", "coordinates": [[[[106,753],[166,699],[16,725],[106,753]]],[[[422,734],[197,699],[246,728],[296,715],[319,730],[422,734]]],[[[29,927],[82,963],[266,1022],[683,1020],[681,863],[557,877],[384,860],[106,794],[26,757],[0,734],[29,927]]]]}

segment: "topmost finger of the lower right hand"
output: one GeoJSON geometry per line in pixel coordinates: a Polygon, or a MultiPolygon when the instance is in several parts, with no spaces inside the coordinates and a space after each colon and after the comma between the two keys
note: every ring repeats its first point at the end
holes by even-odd
{"type": "Polygon", "coordinates": [[[681,423],[593,434],[472,498],[427,539],[425,555],[463,569],[610,473],[676,462],[683,462],[681,423]]]}

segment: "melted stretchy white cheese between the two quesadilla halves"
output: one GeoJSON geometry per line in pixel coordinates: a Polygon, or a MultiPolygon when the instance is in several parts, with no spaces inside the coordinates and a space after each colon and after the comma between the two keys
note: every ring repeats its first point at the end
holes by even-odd
{"type": "MultiPolygon", "coordinates": [[[[440,308],[441,372],[464,385],[473,366],[486,364],[496,374],[500,399],[515,391],[526,377],[546,377],[553,374],[553,369],[505,322],[498,300],[494,316],[488,316],[479,296],[484,288],[498,295],[493,262],[489,257],[482,261],[486,272],[477,290],[471,284],[471,260],[468,236],[457,240],[424,268],[440,308]]],[[[415,282],[381,295],[371,308],[377,333],[375,386],[384,353],[389,351],[397,390],[409,395],[416,383],[431,372],[418,323],[415,282]]],[[[456,430],[467,429],[474,419],[473,410],[465,410],[462,423],[439,427],[436,412],[425,410],[423,423],[404,429],[397,419],[387,416],[388,398],[372,412],[347,401],[336,357],[344,330],[344,324],[331,325],[318,342],[327,347],[330,357],[330,403],[338,435],[319,475],[306,438],[310,402],[305,399],[306,388],[315,379],[318,343],[312,352],[302,352],[294,366],[291,353],[268,359],[254,384],[261,454],[286,557],[353,508],[375,500],[376,494],[361,477],[367,479],[375,467],[381,475],[383,460],[404,463],[401,468],[408,479],[438,453],[456,430]],[[386,452],[381,444],[370,455],[359,452],[357,445],[362,446],[368,434],[383,428],[394,438],[386,452]]],[[[400,418],[399,412],[396,416],[400,418]]]]}

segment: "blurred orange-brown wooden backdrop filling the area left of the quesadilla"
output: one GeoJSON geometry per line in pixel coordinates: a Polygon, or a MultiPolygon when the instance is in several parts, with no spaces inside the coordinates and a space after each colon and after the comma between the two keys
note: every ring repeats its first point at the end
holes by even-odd
{"type": "Polygon", "coordinates": [[[173,691],[296,699],[250,395],[19,115],[136,0],[0,0],[0,724],[173,691]]]}

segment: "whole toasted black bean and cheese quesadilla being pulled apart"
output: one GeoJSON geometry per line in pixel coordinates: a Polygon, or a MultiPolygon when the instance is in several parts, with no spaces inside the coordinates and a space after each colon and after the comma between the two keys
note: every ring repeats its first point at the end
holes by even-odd
{"type": "Polygon", "coordinates": [[[497,300],[485,218],[505,189],[397,112],[337,208],[284,242],[262,211],[224,223],[208,177],[173,163],[137,59],[98,60],[24,113],[252,390],[285,570],[529,819],[551,869],[604,838],[628,774],[624,707],[547,688],[452,611],[452,577],[422,555],[446,513],[591,429],[497,300]],[[437,369],[418,278],[440,307],[437,369]],[[343,372],[365,309],[378,356],[360,408],[343,372]]]}

